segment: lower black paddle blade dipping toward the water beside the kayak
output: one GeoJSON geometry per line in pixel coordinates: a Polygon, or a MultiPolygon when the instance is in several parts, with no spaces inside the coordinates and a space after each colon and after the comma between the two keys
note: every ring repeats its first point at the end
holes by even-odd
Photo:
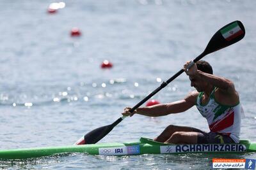
{"type": "Polygon", "coordinates": [[[83,138],[79,139],[75,145],[86,145],[86,144],[94,144],[100,141],[100,139],[104,138],[112,129],[122,122],[122,117],[118,118],[113,124],[105,125],[94,129],[93,131],[88,132],[88,134],[84,135],[83,138]]]}

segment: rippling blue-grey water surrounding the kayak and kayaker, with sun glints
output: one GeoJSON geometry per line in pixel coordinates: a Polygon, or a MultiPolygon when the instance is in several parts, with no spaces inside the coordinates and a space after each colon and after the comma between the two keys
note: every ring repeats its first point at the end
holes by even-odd
{"type": "MultiPolygon", "coordinates": [[[[245,110],[241,138],[256,141],[256,1],[87,0],[0,1],[0,149],[70,145],[83,134],[114,122],[203,52],[223,25],[241,20],[242,41],[207,55],[214,73],[234,81],[245,110]],[[70,37],[72,27],[82,36],[70,37]],[[103,60],[113,68],[100,69],[103,60]]],[[[168,103],[189,91],[179,76],[153,99],[168,103]]],[[[106,142],[154,138],[169,124],[208,131],[192,108],[149,118],[135,115],[115,127],[106,142]]],[[[141,155],[97,157],[71,154],[1,162],[4,169],[209,169],[214,157],[246,155],[141,155]]]]}

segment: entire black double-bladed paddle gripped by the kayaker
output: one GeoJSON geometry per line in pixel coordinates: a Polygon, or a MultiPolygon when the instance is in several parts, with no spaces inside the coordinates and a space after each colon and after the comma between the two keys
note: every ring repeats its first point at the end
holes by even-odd
{"type": "MultiPolygon", "coordinates": [[[[225,25],[212,36],[204,52],[198,55],[198,57],[196,57],[193,60],[193,62],[197,62],[198,60],[202,59],[205,55],[209,53],[215,52],[217,50],[220,50],[221,48],[225,48],[226,46],[232,45],[237,41],[240,41],[241,39],[244,38],[244,35],[245,35],[245,30],[242,22],[236,20],[234,22],[231,22],[230,24],[225,25]]],[[[163,83],[161,83],[161,85],[156,90],[148,94],[147,97],[141,100],[129,111],[131,113],[134,112],[134,110],[138,109],[143,103],[145,103],[148,99],[150,99],[152,96],[157,94],[157,92],[159,92],[161,89],[166,87],[168,83],[173,81],[175,78],[177,78],[177,76],[179,76],[183,72],[184,72],[184,69],[180,69],[179,72],[174,74],[167,81],[163,81],[163,83]]],[[[86,144],[97,143],[100,139],[104,138],[104,136],[106,136],[116,125],[122,122],[122,120],[124,120],[124,117],[118,118],[115,122],[113,122],[113,124],[99,127],[89,132],[84,136],[85,143],[86,144]]]]}

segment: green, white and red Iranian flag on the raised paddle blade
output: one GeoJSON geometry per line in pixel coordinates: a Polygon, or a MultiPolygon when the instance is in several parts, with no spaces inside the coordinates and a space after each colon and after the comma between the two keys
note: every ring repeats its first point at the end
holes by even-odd
{"type": "Polygon", "coordinates": [[[230,41],[236,38],[237,36],[243,34],[243,30],[239,27],[237,22],[234,22],[225,29],[221,29],[220,32],[227,41],[230,41]]]}

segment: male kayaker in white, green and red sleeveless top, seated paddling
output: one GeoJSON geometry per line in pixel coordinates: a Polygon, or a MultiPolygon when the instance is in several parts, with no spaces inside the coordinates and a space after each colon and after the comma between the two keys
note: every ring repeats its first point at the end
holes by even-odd
{"type": "Polygon", "coordinates": [[[191,87],[196,91],[180,101],[154,106],[141,107],[130,113],[131,108],[125,108],[124,116],[134,113],[148,117],[165,116],[181,113],[196,106],[203,117],[207,119],[210,132],[204,132],[194,127],[169,125],[155,138],[164,143],[238,143],[241,129],[241,104],[234,83],[227,78],[212,74],[211,65],[200,60],[193,64],[186,62],[184,71],[189,76],[191,87]],[[193,65],[192,65],[193,64],[193,65]]]}

